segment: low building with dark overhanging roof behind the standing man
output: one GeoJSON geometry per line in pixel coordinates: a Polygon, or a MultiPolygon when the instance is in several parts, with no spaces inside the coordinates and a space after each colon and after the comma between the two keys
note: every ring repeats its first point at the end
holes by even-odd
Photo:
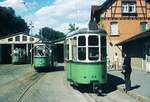
{"type": "Polygon", "coordinates": [[[131,57],[131,67],[150,72],[150,29],[116,44],[131,57]]]}

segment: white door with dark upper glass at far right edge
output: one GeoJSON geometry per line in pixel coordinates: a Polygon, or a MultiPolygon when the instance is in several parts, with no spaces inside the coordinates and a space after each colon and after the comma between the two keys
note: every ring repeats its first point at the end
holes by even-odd
{"type": "Polygon", "coordinates": [[[146,52],[146,71],[150,72],[150,44],[146,44],[145,46],[145,52],[146,52]]]}

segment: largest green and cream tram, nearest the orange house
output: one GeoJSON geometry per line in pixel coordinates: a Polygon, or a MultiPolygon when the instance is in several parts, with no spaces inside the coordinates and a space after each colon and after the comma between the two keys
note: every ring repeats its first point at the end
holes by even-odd
{"type": "Polygon", "coordinates": [[[74,85],[101,85],[107,82],[106,32],[83,28],[65,39],[65,70],[74,85]]]}

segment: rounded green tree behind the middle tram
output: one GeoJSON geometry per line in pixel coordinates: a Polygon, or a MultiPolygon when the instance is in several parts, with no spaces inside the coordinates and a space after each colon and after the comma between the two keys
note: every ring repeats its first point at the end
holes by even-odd
{"type": "Polygon", "coordinates": [[[44,40],[54,41],[59,38],[65,37],[64,33],[55,31],[52,28],[44,27],[39,30],[39,36],[44,40]]]}

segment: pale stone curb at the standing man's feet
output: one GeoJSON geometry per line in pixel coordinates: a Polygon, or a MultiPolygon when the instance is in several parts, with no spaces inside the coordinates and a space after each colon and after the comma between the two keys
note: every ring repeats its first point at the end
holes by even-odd
{"type": "MultiPolygon", "coordinates": [[[[124,90],[123,90],[123,87],[121,85],[117,86],[117,90],[119,90],[122,93],[125,93],[124,90]]],[[[142,96],[142,95],[140,95],[138,93],[135,93],[135,92],[128,91],[125,94],[127,94],[127,95],[129,95],[129,96],[131,96],[131,97],[133,97],[133,98],[135,98],[137,100],[139,100],[140,102],[150,102],[150,98],[142,96]]]]}

